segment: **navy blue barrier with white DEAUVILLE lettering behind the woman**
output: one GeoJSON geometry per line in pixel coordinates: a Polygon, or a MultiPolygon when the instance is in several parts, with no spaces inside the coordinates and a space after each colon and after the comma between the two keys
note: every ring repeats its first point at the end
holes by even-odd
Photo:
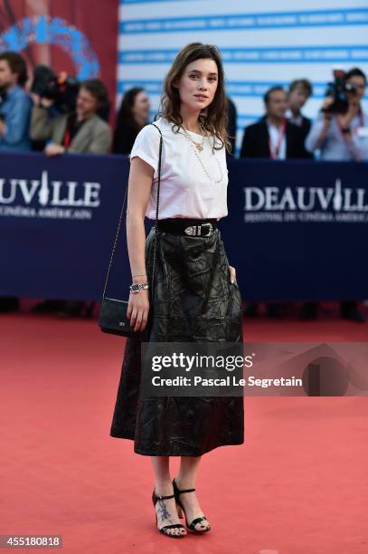
{"type": "MultiPolygon", "coordinates": [[[[244,300],[368,297],[367,164],[228,167],[220,229],[244,300]]],[[[127,172],[123,156],[0,154],[0,295],[100,300],[127,172]]],[[[115,298],[130,284],[123,231],[115,298]]]]}

